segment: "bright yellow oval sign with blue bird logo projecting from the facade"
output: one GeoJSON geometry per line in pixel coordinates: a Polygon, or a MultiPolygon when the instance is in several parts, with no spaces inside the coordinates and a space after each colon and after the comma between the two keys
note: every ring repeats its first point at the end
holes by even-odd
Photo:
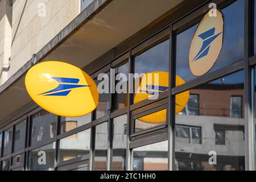
{"type": "Polygon", "coordinates": [[[98,105],[95,82],[80,68],[60,61],[34,65],[25,85],[33,101],[43,109],[63,117],[80,117],[98,105]]]}

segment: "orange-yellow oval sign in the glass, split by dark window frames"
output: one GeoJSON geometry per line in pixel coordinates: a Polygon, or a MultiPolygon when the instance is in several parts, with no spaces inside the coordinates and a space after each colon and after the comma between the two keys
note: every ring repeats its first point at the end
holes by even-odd
{"type": "MultiPolygon", "coordinates": [[[[139,87],[135,88],[137,93],[134,94],[134,104],[137,102],[141,102],[146,100],[150,97],[155,96],[155,93],[162,93],[168,90],[169,85],[169,73],[168,72],[150,72],[143,75],[139,82],[139,87]],[[158,74],[158,84],[155,85],[155,74],[158,74]],[[146,80],[146,84],[143,83],[143,79],[146,80]]],[[[135,80],[136,81],[138,80],[135,80]]],[[[176,86],[185,84],[185,81],[176,75],[176,86]]],[[[180,113],[187,105],[189,100],[189,91],[177,94],[175,96],[175,114],[180,113]]],[[[146,123],[164,123],[166,122],[166,109],[160,110],[156,113],[146,115],[138,119],[139,121],[146,122],[146,123]]]]}

